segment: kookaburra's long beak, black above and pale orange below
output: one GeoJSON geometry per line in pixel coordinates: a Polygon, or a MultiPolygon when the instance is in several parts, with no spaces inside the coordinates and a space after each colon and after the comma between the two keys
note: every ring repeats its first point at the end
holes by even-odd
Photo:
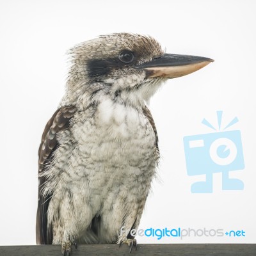
{"type": "Polygon", "coordinates": [[[164,54],[136,68],[143,68],[147,72],[147,77],[175,78],[191,74],[213,61],[205,57],[164,54]]]}

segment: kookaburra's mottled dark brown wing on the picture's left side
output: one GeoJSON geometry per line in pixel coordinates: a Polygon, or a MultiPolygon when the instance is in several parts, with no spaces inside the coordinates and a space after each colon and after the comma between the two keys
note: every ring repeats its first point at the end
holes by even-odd
{"type": "MultiPolygon", "coordinates": [[[[58,109],[52,118],[47,122],[42,141],[38,150],[38,173],[44,172],[47,165],[51,163],[52,154],[58,148],[57,134],[70,125],[70,120],[75,115],[77,109],[75,106],[67,106],[58,109]]],[[[52,229],[47,225],[47,209],[51,200],[51,195],[42,196],[42,185],[45,183],[45,177],[38,178],[38,208],[36,214],[36,243],[51,244],[52,229]]]]}

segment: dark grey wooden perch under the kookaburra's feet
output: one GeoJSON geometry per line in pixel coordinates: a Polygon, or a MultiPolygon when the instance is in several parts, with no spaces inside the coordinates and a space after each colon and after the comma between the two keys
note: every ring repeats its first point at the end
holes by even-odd
{"type": "MultiPolygon", "coordinates": [[[[61,256],[60,245],[0,246],[1,256],[61,256]]],[[[256,244],[138,244],[129,253],[127,244],[81,244],[72,246],[72,256],[255,256],[256,244]]]]}

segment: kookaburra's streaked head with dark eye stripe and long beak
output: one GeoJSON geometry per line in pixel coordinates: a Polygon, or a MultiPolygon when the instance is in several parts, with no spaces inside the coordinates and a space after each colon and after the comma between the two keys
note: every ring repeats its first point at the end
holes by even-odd
{"type": "Polygon", "coordinates": [[[204,57],[166,54],[150,36],[116,33],[83,42],[70,50],[68,76],[70,104],[111,97],[125,104],[150,99],[168,78],[185,76],[212,60],[204,57]]]}

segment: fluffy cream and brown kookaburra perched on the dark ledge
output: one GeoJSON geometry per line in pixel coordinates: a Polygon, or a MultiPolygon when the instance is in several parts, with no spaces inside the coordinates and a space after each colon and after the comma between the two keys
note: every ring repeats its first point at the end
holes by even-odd
{"type": "Polygon", "coordinates": [[[148,102],[213,60],[167,54],[152,36],[102,35],[68,52],[65,94],[38,150],[36,243],[129,244],[159,166],[148,102]],[[121,228],[128,232],[120,232],[121,228]]]}

